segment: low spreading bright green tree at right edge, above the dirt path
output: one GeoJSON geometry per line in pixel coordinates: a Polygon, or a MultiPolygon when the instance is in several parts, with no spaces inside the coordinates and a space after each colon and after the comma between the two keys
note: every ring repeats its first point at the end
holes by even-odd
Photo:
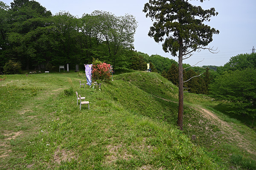
{"type": "Polygon", "coordinates": [[[229,112],[256,116],[256,69],[229,71],[210,86],[216,100],[229,102],[229,112]]]}

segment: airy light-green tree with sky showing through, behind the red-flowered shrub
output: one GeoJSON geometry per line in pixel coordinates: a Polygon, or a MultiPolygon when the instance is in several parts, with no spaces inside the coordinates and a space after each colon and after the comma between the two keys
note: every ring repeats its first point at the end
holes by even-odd
{"type": "MultiPolygon", "coordinates": [[[[137,29],[137,21],[134,16],[125,14],[117,17],[106,11],[94,11],[94,28],[99,33],[97,39],[105,42],[108,48],[108,59],[116,67],[117,60],[122,56],[122,48],[131,50],[134,48],[134,34],[137,29]]],[[[123,57],[123,56],[122,56],[123,57]]]]}

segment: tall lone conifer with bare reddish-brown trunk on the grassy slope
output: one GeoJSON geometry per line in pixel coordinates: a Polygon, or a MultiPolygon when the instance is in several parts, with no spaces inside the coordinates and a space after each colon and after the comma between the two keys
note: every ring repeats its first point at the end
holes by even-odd
{"type": "MultiPolygon", "coordinates": [[[[200,0],[203,2],[203,0],[200,0]]],[[[177,124],[183,129],[183,59],[189,58],[193,51],[204,48],[212,42],[212,35],[219,31],[204,24],[215,16],[214,8],[204,10],[193,6],[188,0],[149,0],[143,11],[154,21],[148,36],[159,43],[163,51],[178,56],[179,65],[179,112],[177,124]]],[[[208,48],[209,49],[209,48],[208,48]]],[[[212,50],[212,49],[209,49],[212,50]]]]}

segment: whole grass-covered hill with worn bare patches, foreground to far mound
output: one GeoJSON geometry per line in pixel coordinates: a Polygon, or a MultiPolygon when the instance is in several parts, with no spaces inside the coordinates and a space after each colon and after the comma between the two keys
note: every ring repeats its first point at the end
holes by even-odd
{"type": "Polygon", "coordinates": [[[100,91],[79,88],[81,73],[4,77],[0,169],[256,169],[255,131],[208,96],[184,95],[178,130],[177,87],[159,74],[119,74],[100,91]],[[79,111],[75,91],[90,111],[79,111]]]}

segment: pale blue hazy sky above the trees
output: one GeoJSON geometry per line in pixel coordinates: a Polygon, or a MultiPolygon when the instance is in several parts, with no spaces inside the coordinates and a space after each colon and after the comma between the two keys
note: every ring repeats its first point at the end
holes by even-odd
{"type": "MultiPolygon", "coordinates": [[[[13,0],[2,0],[10,5],[13,0]]],[[[159,54],[163,57],[175,59],[162,50],[162,44],[154,42],[148,37],[148,31],[152,22],[145,17],[142,11],[148,0],[36,0],[42,6],[56,14],[59,11],[69,11],[74,16],[81,17],[83,14],[91,14],[95,10],[108,11],[116,16],[125,14],[133,15],[138,28],[135,34],[135,50],[148,55],[159,54]]],[[[219,13],[212,17],[206,24],[216,28],[220,34],[213,36],[213,41],[208,47],[218,48],[218,54],[211,54],[209,51],[195,52],[192,57],[183,61],[190,65],[217,65],[227,63],[230,57],[237,54],[250,54],[253,46],[256,48],[256,0],[205,0],[200,3],[197,0],[190,1],[194,5],[200,5],[204,9],[215,8],[219,13]]]]}

